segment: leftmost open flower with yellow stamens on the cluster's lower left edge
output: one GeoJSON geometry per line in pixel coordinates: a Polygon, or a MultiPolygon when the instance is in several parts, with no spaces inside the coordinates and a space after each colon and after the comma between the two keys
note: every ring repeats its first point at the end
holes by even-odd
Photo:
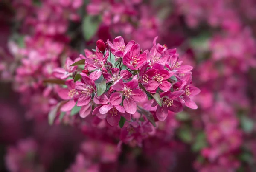
{"type": "Polygon", "coordinates": [[[65,84],[67,88],[57,89],[58,96],[63,100],[68,100],[68,102],[61,107],[61,111],[63,112],[71,110],[76,105],[76,101],[79,98],[79,93],[75,89],[73,79],[68,79],[65,84]]]}

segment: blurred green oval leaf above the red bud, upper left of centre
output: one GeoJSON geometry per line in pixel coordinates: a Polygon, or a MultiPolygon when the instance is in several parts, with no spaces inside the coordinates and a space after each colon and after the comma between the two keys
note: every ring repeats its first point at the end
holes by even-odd
{"type": "Polygon", "coordinates": [[[82,32],[85,40],[90,40],[99,28],[99,17],[87,15],[82,22],[82,32]]]}

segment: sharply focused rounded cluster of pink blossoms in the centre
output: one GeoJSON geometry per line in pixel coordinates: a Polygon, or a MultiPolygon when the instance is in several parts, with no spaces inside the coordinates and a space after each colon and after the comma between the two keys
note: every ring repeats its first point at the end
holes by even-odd
{"type": "MultiPolygon", "coordinates": [[[[113,43],[99,40],[95,52],[84,50],[85,56],[74,63],[67,58],[64,68],[53,70],[56,78],[67,79],[65,88],[56,89],[64,101],[60,111],[77,106],[81,118],[95,115],[111,126],[124,125],[129,132],[120,137],[127,142],[131,135],[152,130],[147,121],[154,119],[153,114],[164,121],[169,111],[183,111],[183,105],[197,109],[191,98],[200,90],[192,85],[192,67],[182,65],[176,49],[157,44],[156,39],[149,51],[142,51],[134,41],[125,44],[120,36],[113,43]],[[84,70],[77,66],[82,64],[84,70]],[[150,104],[151,110],[141,103],[150,104]]],[[[155,125],[154,120],[151,123],[155,125]]]]}

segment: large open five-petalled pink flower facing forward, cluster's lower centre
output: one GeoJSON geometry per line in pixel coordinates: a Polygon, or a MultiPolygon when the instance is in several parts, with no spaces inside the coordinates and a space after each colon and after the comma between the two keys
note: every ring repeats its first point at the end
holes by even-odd
{"type": "Polygon", "coordinates": [[[146,99],[145,93],[140,89],[136,89],[137,87],[137,78],[127,83],[124,83],[123,80],[119,80],[119,82],[113,86],[113,90],[118,92],[113,93],[109,101],[113,105],[119,105],[122,102],[122,96],[125,96],[123,101],[125,111],[134,114],[137,110],[136,102],[143,102],[146,99]]]}

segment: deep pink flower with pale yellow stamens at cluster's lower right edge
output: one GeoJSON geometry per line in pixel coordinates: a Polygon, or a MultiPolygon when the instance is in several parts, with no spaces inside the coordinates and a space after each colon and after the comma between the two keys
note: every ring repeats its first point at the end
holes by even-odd
{"type": "Polygon", "coordinates": [[[162,107],[157,105],[157,102],[154,100],[152,107],[157,105],[156,116],[159,121],[164,121],[168,116],[168,110],[172,112],[181,112],[183,110],[182,104],[176,99],[179,98],[184,91],[165,91],[160,94],[162,107]]]}

